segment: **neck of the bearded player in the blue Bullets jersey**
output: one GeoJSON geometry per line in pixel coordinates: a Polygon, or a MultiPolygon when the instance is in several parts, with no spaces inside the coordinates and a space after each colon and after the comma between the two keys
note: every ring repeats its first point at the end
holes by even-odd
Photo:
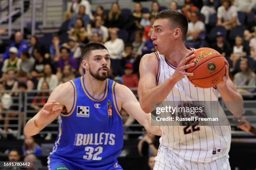
{"type": "Polygon", "coordinates": [[[105,92],[106,80],[100,81],[89,74],[85,74],[84,85],[93,98],[100,100],[105,92]]]}

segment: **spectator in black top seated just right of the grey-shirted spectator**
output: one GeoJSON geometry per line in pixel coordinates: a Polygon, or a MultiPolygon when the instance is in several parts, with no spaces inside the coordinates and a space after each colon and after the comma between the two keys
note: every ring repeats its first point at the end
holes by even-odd
{"type": "Polygon", "coordinates": [[[40,78],[44,75],[44,65],[50,64],[51,60],[44,57],[44,49],[36,47],[33,50],[33,56],[36,59],[35,65],[32,71],[32,76],[40,78]]]}

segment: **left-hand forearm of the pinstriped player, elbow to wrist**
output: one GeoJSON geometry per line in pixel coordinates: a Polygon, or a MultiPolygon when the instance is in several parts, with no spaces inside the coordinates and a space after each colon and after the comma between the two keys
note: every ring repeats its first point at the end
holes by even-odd
{"type": "Polygon", "coordinates": [[[173,79],[173,77],[170,77],[161,85],[158,85],[150,90],[146,90],[139,96],[142,110],[146,113],[154,110],[154,108],[151,108],[152,102],[164,101],[176,83],[177,82],[173,79]]]}

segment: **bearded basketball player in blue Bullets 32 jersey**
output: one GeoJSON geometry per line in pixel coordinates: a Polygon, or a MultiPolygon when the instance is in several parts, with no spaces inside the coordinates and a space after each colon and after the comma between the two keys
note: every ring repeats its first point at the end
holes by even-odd
{"type": "Polygon", "coordinates": [[[131,90],[107,79],[110,55],[104,45],[87,44],[82,49],[82,67],[85,75],[56,87],[42,110],[27,122],[24,133],[36,135],[58,117],[50,170],[121,170],[117,161],[123,148],[121,109],[150,133],[161,135],[161,131],[151,126],[150,116],[131,90]]]}

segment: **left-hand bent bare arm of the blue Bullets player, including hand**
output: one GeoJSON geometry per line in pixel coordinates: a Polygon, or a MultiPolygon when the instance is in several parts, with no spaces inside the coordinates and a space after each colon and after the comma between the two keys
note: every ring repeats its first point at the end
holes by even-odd
{"type": "Polygon", "coordinates": [[[59,115],[63,107],[70,108],[70,99],[74,98],[74,90],[70,82],[56,87],[51,93],[44,107],[24,127],[24,134],[32,136],[38,134],[59,115]]]}

